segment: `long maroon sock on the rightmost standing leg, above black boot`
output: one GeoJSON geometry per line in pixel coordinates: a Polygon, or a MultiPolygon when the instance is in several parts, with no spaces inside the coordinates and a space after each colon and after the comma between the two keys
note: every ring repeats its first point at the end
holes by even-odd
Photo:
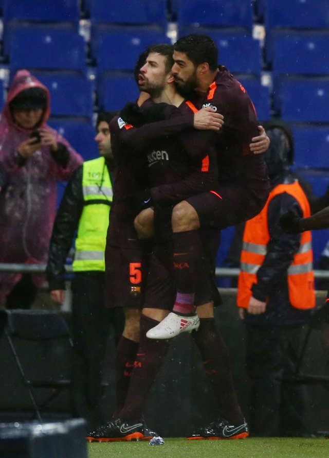
{"type": "Polygon", "coordinates": [[[243,415],[234,389],[229,351],[214,318],[200,319],[199,329],[193,331],[192,335],[213,387],[221,416],[233,425],[240,425],[243,415]]]}

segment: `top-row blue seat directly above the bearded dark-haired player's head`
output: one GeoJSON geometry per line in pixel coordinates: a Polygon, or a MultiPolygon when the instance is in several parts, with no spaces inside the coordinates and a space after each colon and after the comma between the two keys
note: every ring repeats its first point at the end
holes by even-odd
{"type": "Polygon", "coordinates": [[[207,27],[252,27],[250,0],[179,0],[178,27],[200,25],[207,27]]]}

